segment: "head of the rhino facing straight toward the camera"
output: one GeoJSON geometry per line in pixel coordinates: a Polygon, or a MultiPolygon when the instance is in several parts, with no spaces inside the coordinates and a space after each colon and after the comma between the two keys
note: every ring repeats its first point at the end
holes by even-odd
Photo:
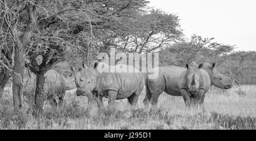
{"type": "Polygon", "coordinates": [[[196,62],[192,62],[191,64],[186,64],[187,67],[187,87],[188,92],[192,95],[195,95],[197,91],[199,91],[200,86],[200,70],[199,65],[196,62]]]}

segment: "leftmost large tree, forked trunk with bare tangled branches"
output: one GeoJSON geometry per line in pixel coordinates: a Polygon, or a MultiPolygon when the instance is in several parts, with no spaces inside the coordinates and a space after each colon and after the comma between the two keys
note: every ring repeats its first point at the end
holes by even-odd
{"type": "MultiPolygon", "coordinates": [[[[34,1],[36,5],[37,1],[34,1]]],[[[5,66],[13,75],[13,105],[15,112],[23,111],[23,71],[26,49],[34,30],[32,1],[1,1],[1,42],[11,50],[12,65],[5,66]]],[[[1,51],[5,51],[1,48],[1,51]]]]}

